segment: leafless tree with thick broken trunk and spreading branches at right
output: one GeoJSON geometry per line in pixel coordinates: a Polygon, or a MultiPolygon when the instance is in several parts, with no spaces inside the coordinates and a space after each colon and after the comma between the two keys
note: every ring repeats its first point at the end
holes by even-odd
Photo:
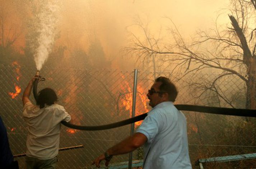
{"type": "Polygon", "coordinates": [[[200,71],[218,72],[214,79],[192,82],[202,96],[211,91],[218,99],[224,100],[231,107],[236,107],[235,99],[228,98],[218,81],[229,76],[236,76],[246,84],[246,108],[256,109],[256,8],[255,0],[231,1],[229,17],[231,25],[223,28],[217,25],[208,32],[200,31],[194,42],[187,43],[170,18],[172,27],[168,28],[174,44],[160,44],[159,39],[146,36],[151,43],[145,43],[133,35],[129,52],[139,53],[140,60],[154,55],[161,66],[171,72],[184,72],[186,75],[200,71]]]}

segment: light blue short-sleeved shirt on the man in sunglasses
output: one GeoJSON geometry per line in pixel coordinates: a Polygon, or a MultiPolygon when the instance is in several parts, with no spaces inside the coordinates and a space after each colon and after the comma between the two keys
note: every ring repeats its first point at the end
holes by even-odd
{"type": "Polygon", "coordinates": [[[136,132],[148,141],[144,146],[145,169],[191,169],[186,118],[172,102],[162,102],[148,113],[136,132]]]}

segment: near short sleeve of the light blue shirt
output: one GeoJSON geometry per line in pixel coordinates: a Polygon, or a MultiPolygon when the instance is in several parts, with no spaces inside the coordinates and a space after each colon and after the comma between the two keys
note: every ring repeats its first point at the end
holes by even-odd
{"type": "Polygon", "coordinates": [[[154,140],[154,137],[159,131],[160,125],[156,113],[156,111],[150,113],[136,130],[136,133],[142,133],[147,137],[148,143],[154,140]]]}

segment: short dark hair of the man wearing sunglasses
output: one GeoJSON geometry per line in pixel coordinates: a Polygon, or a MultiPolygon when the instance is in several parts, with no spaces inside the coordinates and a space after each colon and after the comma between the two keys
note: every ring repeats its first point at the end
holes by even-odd
{"type": "Polygon", "coordinates": [[[162,93],[168,93],[169,101],[174,102],[178,95],[176,86],[168,78],[163,77],[163,76],[160,76],[157,79],[155,79],[155,82],[162,83],[159,87],[159,89],[161,91],[161,93],[159,93],[160,96],[162,95],[162,93]]]}

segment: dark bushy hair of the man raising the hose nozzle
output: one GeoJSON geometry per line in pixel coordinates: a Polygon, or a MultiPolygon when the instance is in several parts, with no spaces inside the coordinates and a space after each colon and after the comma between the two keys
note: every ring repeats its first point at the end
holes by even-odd
{"type": "Polygon", "coordinates": [[[39,91],[36,104],[39,105],[40,109],[42,109],[45,107],[45,104],[52,105],[54,102],[57,102],[57,100],[58,97],[55,91],[51,88],[45,88],[39,91]]]}

